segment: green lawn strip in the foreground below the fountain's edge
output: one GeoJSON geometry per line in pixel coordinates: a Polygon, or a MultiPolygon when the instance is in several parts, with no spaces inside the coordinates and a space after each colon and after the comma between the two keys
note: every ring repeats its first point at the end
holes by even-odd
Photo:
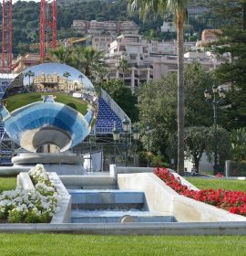
{"type": "Polygon", "coordinates": [[[245,255],[245,236],[0,234],[0,255],[245,255]]]}

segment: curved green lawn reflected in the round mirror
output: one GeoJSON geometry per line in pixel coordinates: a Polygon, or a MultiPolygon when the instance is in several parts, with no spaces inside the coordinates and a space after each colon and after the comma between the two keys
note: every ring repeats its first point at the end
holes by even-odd
{"type": "MultiPolygon", "coordinates": [[[[5,101],[7,102],[7,110],[13,112],[18,108],[26,106],[27,104],[42,101],[42,95],[54,95],[56,96],[56,102],[63,103],[75,110],[81,112],[82,114],[87,113],[87,102],[81,99],[73,98],[71,95],[63,93],[51,93],[51,92],[30,92],[30,93],[20,93],[8,97],[5,101]]],[[[4,101],[4,102],[5,102],[4,101]]]]}

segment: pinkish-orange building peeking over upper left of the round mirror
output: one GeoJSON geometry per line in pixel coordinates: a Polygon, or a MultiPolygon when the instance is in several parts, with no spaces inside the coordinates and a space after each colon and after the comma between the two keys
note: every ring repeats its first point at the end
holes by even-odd
{"type": "Polygon", "coordinates": [[[27,53],[25,56],[18,56],[13,61],[14,73],[21,73],[23,70],[40,64],[40,56],[38,53],[27,53]]]}

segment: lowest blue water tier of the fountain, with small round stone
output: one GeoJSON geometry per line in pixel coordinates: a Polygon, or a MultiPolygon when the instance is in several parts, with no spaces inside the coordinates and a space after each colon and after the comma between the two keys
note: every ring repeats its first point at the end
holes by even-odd
{"type": "Polygon", "coordinates": [[[149,211],[111,211],[111,210],[73,210],[72,223],[116,223],[124,217],[130,216],[132,222],[175,222],[173,216],[161,216],[149,211]]]}

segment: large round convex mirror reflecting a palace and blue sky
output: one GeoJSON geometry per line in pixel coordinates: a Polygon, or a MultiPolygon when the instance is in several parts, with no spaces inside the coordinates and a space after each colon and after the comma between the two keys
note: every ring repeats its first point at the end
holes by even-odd
{"type": "Polygon", "coordinates": [[[90,133],[97,112],[91,81],[59,63],[26,69],[8,86],[0,108],[6,133],[31,152],[67,151],[90,133]]]}

